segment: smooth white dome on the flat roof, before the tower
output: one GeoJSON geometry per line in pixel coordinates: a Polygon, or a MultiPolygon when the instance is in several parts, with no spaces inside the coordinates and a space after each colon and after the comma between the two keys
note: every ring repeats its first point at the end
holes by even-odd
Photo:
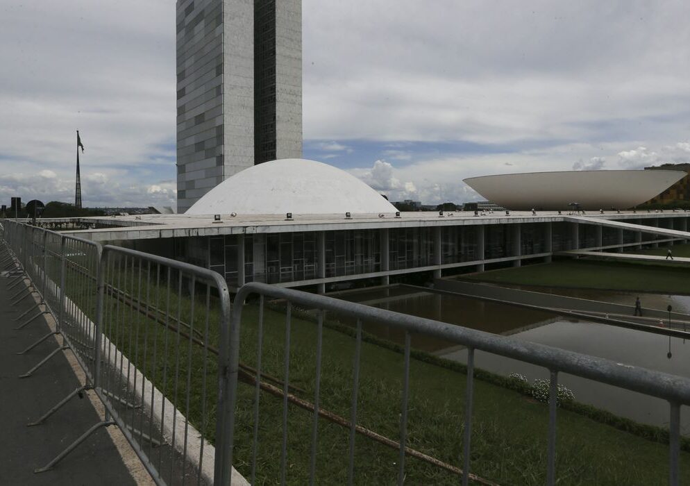
{"type": "Polygon", "coordinates": [[[187,215],[336,214],[395,212],[367,184],[314,160],[264,162],[226,179],[185,212],[187,215]]]}

